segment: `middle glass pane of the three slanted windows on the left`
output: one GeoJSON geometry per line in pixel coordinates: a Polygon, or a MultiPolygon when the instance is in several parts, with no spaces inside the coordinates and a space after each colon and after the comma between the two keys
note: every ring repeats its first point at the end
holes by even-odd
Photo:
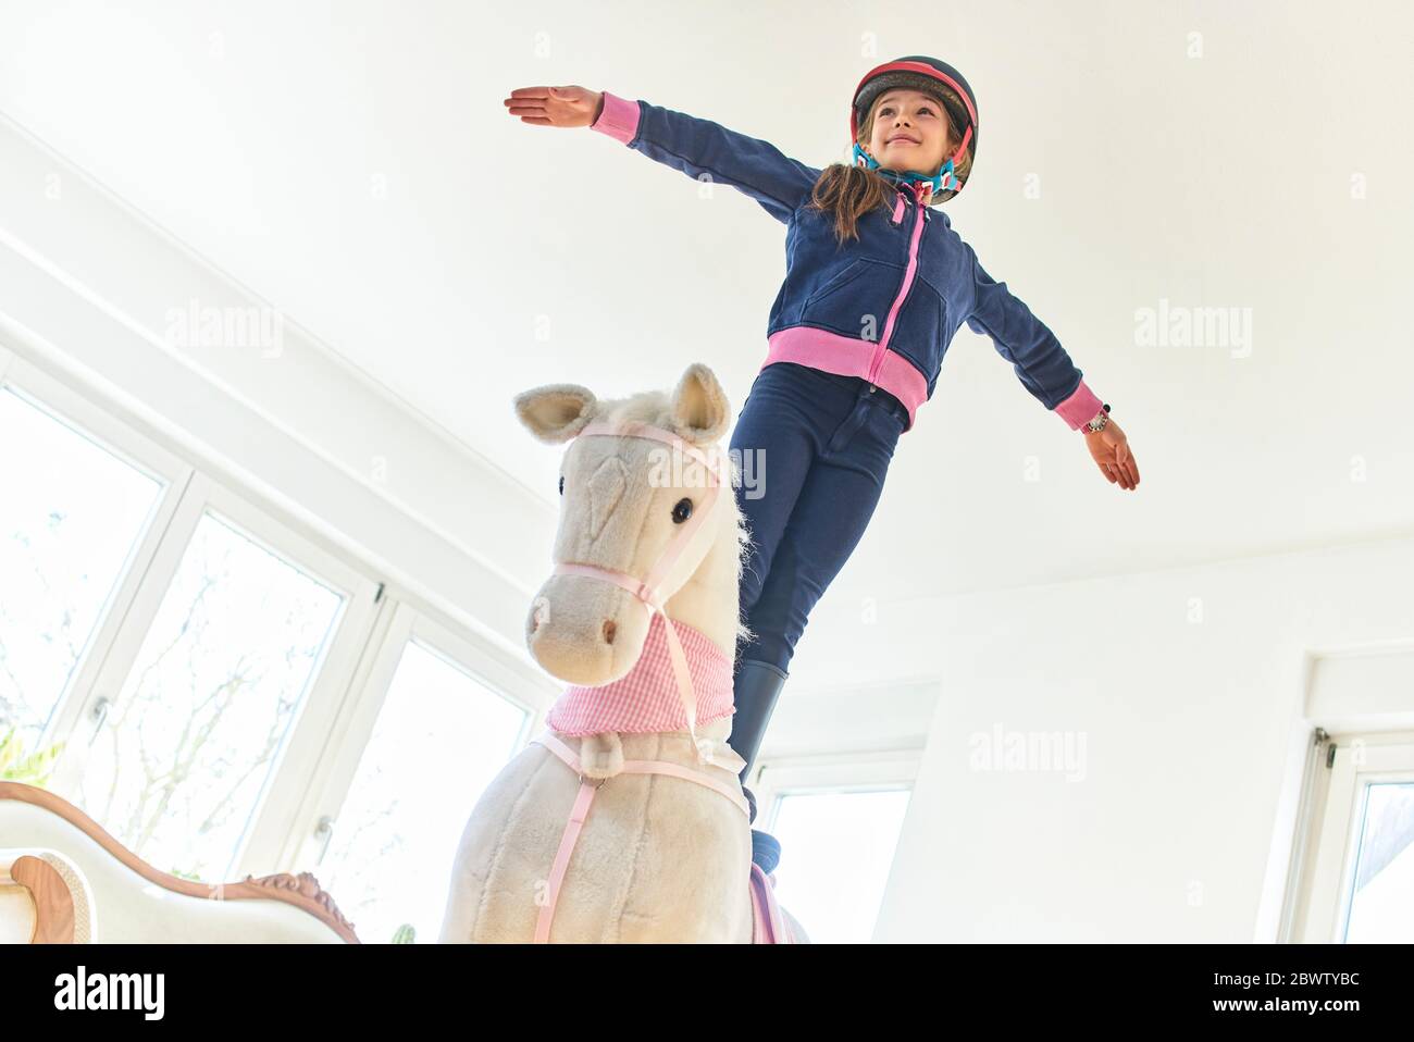
{"type": "Polygon", "coordinates": [[[204,512],[89,739],[83,810],[163,871],[229,878],[342,602],[204,512]]]}

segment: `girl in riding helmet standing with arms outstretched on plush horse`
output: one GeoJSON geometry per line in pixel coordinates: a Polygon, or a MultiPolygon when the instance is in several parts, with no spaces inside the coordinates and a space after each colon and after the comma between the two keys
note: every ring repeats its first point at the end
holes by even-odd
{"type": "MultiPolygon", "coordinates": [[[[963,322],[991,336],[1021,385],[1085,433],[1100,472],[1124,489],[1138,468],[1110,407],[1055,335],[983,270],[942,211],[977,154],[977,99],[946,62],[908,55],[860,81],[850,106],[853,164],[823,170],[710,120],[580,86],[505,99],[512,116],[588,126],[697,180],[728,184],[786,225],[786,277],[766,324],[766,358],[731,448],[769,455],[762,495],[737,499],[751,527],[730,744],[751,773],[810,609],[858,544],[898,438],[933,396],[963,322]],[[769,452],[765,450],[769,448],[769,452]]],[[[758,472],[765,474],[758,465],[758,472]]],[[[751,800],[755,820],[755,797],[751,800]]],[[[758,864],[779,844],[752,830],[758,864]]]]}

